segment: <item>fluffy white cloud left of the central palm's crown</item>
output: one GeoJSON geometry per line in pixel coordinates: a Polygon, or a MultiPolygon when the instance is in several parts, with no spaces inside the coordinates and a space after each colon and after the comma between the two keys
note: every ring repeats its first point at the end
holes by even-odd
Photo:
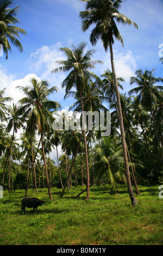
{"type": "Polygon", "coordinates": [[[30,57],[27,59],[27,66],[29,67],[27,74],[29,74],[19,80],[16,79],[16,75],[9,75],[8,70],[3,69],[0,64],[0,89],[7,88],[5,96],[12,97],[14,103],[16,103],[23,97],[23,93],[16,87],[26,86],[30,83],[31,78],[35,77],[38,81],[47,80],[50,87],[56,86],[58,93],[52,95],[51,100],[60,103],[61,101],[63,102],[65,89],[61,88],[61,83],[66,76],[62,72],[58,74],[51,73],[51,71],[58,66],[56,61],[65,59],[64,54],[60,51],[60,47],[62,47],[60,42],[52,46],[43,45],[35,52],[31,53],[30,57]]]}

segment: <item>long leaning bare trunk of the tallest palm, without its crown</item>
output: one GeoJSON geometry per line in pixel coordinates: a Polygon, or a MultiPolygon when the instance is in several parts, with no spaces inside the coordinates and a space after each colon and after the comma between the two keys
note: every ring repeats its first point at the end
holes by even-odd
{"type": "Polygon", "coordinates": [[[113,56],[113,51],[112,51],[112,43],[110,40],[109,40],[109,47],[110,47],[112,74],[114,76],[115,91],[116,91],[116,98],[117,98],[117,108],[118,108],[119,121],[120,121],[121,142],[122,142],[122,148],[123,148],[123,157],[124,157],[124,165],[125,165],[125,171],[126,171],[128,193],[129,193],[129,197],[131,199],[131,204],[136,205],[137,201],[135,199],[133,188],[131,185],[131,180],[130,180],[127,149],[126,149],[126,139],[125,139],[125,135],[124,135],[123,115],[122,115],[121,100],[120,100],[120,92],[118,90],[118,83],[117,83],[115,64],[114,64],[114,56],[113,56]]]}

